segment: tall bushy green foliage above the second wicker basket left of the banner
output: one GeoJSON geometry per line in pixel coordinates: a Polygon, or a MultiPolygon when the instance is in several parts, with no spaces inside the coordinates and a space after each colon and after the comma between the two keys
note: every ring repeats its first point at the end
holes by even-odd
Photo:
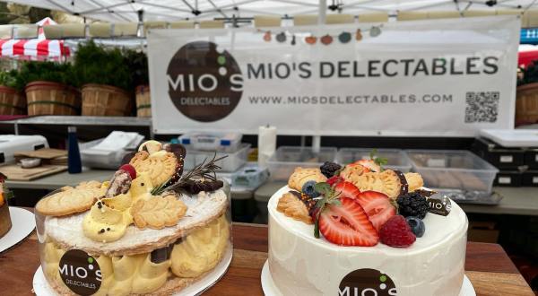
{"type": "Polygon", "coordinates": [[[108,84],[126,91],[133,90],[127,59],[118,48],[103,48],[92,40],[81,44],[74,57],[74,70],[82,84],[108,84]]]}

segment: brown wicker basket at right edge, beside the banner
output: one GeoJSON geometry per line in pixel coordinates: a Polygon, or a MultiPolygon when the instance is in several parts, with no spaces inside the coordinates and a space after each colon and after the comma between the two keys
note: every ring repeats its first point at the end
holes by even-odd
{"type": "Polygon", "coordinates": [[[516,126],[538,122],[538,83],[517,87],[516,126]]]}

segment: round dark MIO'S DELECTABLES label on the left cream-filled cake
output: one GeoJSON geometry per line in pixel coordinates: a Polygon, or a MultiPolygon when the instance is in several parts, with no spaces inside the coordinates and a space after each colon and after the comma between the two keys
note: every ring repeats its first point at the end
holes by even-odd
{"type": "Polygon", "coordinates": [[[86,296],[99,291],[102,274],[94,257],[80,249],[65,252],[58,272],[65,285],[76,294],[86,296]]]}

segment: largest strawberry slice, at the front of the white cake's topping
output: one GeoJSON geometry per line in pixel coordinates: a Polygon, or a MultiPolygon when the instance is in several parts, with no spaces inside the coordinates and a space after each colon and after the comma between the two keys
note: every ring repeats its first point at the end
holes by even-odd
{"type": "Polygon", "coordinates": [[[359,203],[347,197],[340,202],[328,205],[319,215],[319,231],[325,239],[341,246],[377,245],[379,235],[359,203]]]}

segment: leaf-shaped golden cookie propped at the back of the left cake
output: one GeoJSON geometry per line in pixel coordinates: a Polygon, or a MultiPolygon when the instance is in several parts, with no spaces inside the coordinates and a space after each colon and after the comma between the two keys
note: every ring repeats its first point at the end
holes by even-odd
{"type": "Polygon", "coordinates": [[[153,186],[159,186],[169,181],[178,170],[178,159],[173,152],[137,152],[129,162],[136,173],[147,172],[152,179],[153,186]]]}

